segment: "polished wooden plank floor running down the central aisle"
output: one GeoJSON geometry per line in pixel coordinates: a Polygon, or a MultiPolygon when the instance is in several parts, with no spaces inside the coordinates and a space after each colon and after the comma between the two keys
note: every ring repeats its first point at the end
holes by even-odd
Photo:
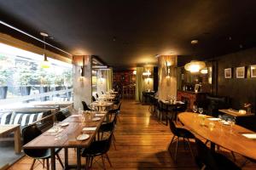
{"type": "MultiPolygon", "coordinates": [[[[124,100],[115,138],[117,150],[112,147],[108,153],[113,167],[105,161],[108,169],[198,169],[189,150],[184,150],[182,143],[178,147],[177,162],[172,161],[167,151],[172,133],[169,127],[157,122],[156,118],[149,113],[148,105],[141,105],[134,100],[124,100]]],[[[192,146],[195,150],[195,144],[192,146]]],[[[69,163],[75,163],[75,151],[71,149],[69,153],[69,163]]],[[[229,152],[224,154],[230,156],[229,152]]],[[[241,156],[236,157],[237,164],[245,160],[241,156]]],[[[63,152],[61,152],[61,159],[63,160],[63,152]]],[[[58,161],[56,162],[57,169],[61,169],[58,161]]],[[[9,169],[27,170],[31,163],[32,159],[25,156],[9,169]]],[[[102,169],[101,159],[96,159],[92,168],[102,169]]],[[[43,167],[37,162],[34,169],[43,169],[43,167]]],[[[256,169],[256,164],[250,162],[243,169],[256,169]]]]}

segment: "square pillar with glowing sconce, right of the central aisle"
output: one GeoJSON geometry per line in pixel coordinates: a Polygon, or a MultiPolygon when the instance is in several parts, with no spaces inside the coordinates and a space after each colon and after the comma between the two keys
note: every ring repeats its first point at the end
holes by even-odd
{"type": "Polygon", "coordinates": [[[167,99],[168,95],[177,97],[177,55],[160,55],[158,68],[159,99],[167,99]]]}

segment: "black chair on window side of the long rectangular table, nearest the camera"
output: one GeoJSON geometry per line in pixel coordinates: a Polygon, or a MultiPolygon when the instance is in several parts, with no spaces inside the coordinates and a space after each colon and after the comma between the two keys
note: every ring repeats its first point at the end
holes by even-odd
{"type": "MultiPolygon", "coordinates": [[[[30,125],[22,129],[22,137],[23,137],[23,144],[27,144],[28,142],[32,141],[32,139],[37,138],[39,135],[41,135],[41,130],[37,127],[37,125],[30,125]]],[[[55,149],[55,155],[57,156],[58,161],[61,163],[61,167],[63,166],[63,163],[61,161],[60,156],[58,153],[61,151],[61,148],[55,149]]],[[[49,169],[49,158],[50,158],[50,150],[49,149],[24,149],[24,153],[26,156],[32,157],[32,166],[30,169],[33,169],[33,166],[36,162],[36,160],[42,159],[43,161],[46,160],[47,169],[49,169]]],[[[41,161],[39,161],[42,163],[41,161]]],[[[44,163],[43,163],[44,167],[44,163]]]]}

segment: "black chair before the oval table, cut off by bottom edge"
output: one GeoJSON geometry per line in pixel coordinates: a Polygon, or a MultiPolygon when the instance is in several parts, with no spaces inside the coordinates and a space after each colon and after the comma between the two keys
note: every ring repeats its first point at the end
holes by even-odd
{"type": "Polygon", "coordinates": [[[201,167],[201,169],[210,169],[210,170],[239,170],[240,167],[237,167],[233,161],[230,161],[227,157],[212,152],[206,144],[201,142],[200,139],[195,139],[197,156],[195,157],[196,164],[201,167]]]}

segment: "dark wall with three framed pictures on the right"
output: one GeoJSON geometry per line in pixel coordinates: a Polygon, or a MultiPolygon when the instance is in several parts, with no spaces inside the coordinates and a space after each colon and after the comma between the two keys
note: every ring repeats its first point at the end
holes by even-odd
{"type": "Polygon", "coordinates": [[[243,109],[244,103],[256,106],[256,78],[250,77],[250,65],[256,65],[256,48],[242,50],[234,54],[226,54],[218,57],[218,95],[228,96],[231,99],[231,107],[243,109]],[[236,67],[246,66],[246,77],[236,78],[236,67]],[[224,78],[224,69],[232,69],[232,78],[224,78]]]}

